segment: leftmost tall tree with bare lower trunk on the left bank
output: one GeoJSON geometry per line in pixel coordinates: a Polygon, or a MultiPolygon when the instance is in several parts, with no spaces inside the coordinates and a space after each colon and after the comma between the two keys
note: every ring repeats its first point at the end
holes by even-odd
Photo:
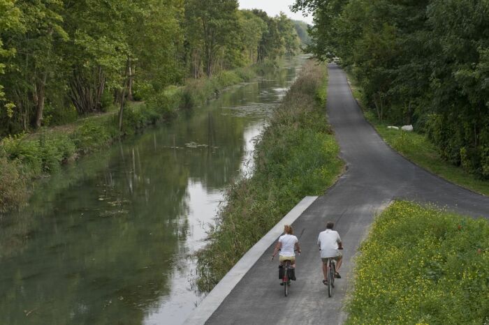
{"type": "Polygon", "coordinates": [[[8,61],[6,82],[8,98],[24,115],[24,129],[32,110],[35,112],[32,125],[35,128],[41,126],[46,86],[60,60],[57,44],[68,38],[61,27],[62,4],[59,0],[15,1],[24,31],[8,34],[8,44],[15,48],[15,55],[8,61]]]}

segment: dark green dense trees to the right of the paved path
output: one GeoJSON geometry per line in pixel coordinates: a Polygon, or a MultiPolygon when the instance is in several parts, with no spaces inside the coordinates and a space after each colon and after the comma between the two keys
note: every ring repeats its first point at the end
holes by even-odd
{"type": "Polygon", "coordinates": [[[379,119],[414,124],[489,178],[489,1],[296,0],[317,57],[339,57],[379,119]]]}

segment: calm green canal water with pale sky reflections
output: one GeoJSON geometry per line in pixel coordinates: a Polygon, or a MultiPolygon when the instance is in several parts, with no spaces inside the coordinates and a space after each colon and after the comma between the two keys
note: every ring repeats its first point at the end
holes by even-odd
{"type": "Polygon", "coordinates": [[[188,255],[298,65],[36,183],[0,220],[0,324],[183,322],[202,298],[188,255]]]}

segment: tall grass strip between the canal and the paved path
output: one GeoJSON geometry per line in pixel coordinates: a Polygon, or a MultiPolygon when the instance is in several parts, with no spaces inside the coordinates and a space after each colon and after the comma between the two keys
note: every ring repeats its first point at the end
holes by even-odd
{"type": "Polygon", "coordinates": [[[326,73],[323,64],[306,63],[261,135],[253,176],[228,189],[208,245],[197,253],[200,290],[212,289],[300,199],[320,195],[342,172],[325,114],[326,73]]]}

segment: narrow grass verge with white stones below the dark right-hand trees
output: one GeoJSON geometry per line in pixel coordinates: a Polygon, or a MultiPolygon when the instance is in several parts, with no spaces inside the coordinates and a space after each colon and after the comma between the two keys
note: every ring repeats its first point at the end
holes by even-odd
{"type": "Polygon", "coordinates": [[[353,77],[349,76],[349,80],[351,82],[353,96],[364,109],[365,118],[370,121],[389,146],[416,165],[429,170],[433,174],[441,176],[447,181],[451,181],[452,183],[473,190],[474,192],[489,195],[489,181],[478,179],[464,169],[452,165],[450,162],[441,158],[439,150],[432,144],[432,142],[430,142],[426,135],[416,132],[388,129],[386,121],[379,121],[374,112],[365,109],[361,89],[355,84],[353,77]]]}

